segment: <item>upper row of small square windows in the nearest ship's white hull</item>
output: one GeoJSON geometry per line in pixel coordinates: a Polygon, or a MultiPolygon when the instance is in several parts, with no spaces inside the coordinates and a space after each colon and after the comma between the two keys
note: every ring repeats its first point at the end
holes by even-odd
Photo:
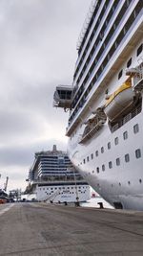
{"type": "MultiPolygon", "coordinates": [[[[133,126],[133,132],[134,132],[134,134],[136,134],[138,131],[139,131],[139,126],[138,126],[138,124],[136,124],[136,125],[133,126]]],[[[128,139],[128,131],[127,130],[123,132],[123,139],[124,140],[128,139]]],[[[115,137],[114,138],[114,145],[116,146],[118,144],[119,144],[119,138],[115,137]]],[[[108,150],[112,149],[112,143],[111,142],[108,142],[107,148],[108,148],[108,150]]],[[[104,147],[101,147],[101,153],[104,153],[104,147]]],[[[98,155],[99,155],[99,151],[95,151],[95,156],[98,156],[98,155]]],[[[91,159],[93,159],[93,153],[91,154],[91,159]]],[[[89,162],[89,161],[90,161],[90,157],[87,156],[87,162],[89,162]]],[[[86,159],[83,160],[83,163],[84,164],[86,163],[86,159]]]]}

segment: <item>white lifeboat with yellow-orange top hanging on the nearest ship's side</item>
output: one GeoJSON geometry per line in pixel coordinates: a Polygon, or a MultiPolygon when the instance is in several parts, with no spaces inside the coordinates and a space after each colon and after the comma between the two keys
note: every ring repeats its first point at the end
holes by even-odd
{"type": "Polygon", "coordinates": [[[129,80],[109,96],[104,112],[111,122],[133,104],[133,95],[132,82],[129,80]]]}

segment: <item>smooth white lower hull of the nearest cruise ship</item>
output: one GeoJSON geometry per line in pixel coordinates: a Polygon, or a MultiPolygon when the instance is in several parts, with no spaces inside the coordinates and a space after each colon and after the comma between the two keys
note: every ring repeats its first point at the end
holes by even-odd
{"type": "MultiPolygon", "coordinates": [[[[92,188],[112,206],[121,203],[123,208],[143,210],[143,158],[135,158],[135,150],[143,150],[143,113],[135,116],[122,128],[113,133],[109,131],[108,125],[104,126],[100,135],[95,136],[88,145],[75,144],[69,141],[69,155],[72,163],[78,171],[89,182],[92,188]],[[133,126],[139,124],[139,132],[133,134],[133,126]],[[129,139],[124,141],[123,132],[127,130],[129,139]],[[119,138],[119,144],[114,145],[114,138],[119,138]],[[111,150],[108,150],[108,142],[111,142],[111,150]],[[101,148],[104,152],[101,153],[101,148]],[[95,151],[99,155],[95,157],[95,151]],[[130,162],[125,163],[125,154],[130,152],[130,162]],[[91,159],[91,154],[94,154],[91,159]],[[90,161],[83,165],[83,159],[90,157],[90,161]],[[120,158],[120,166],[116,166],[115,159],[120,158]],[[112,169],[109,162],[112,161],[112,169]],[[81,164],[82,163],[82,164],[81,164]],[[102,171],[102,165],[105,171],[102,171]],[[96,173],[99,167],[99,173],[96,173]]],[[[78,135],[77,135],[78,136],[78,135]]]]}

